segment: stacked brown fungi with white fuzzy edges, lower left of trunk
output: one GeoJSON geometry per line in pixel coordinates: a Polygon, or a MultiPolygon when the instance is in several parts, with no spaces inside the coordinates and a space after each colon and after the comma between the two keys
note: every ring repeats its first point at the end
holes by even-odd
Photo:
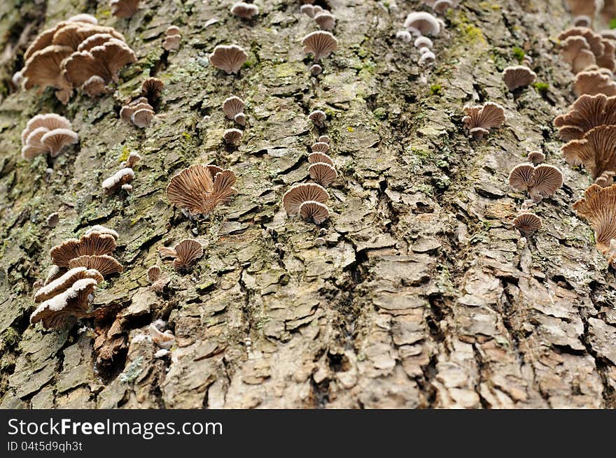
{"type": "Polygon", "coordinates": [[[111,253],[118,233],[102,226],[91,227],[81,238],[69,238],[50,250],[54,266],[43,287],[34,294],[36,310],[30,322],[45,329],[62,329],[79,318],[92,317],[90,302],[99,282],[123,271],[111,253]]]}

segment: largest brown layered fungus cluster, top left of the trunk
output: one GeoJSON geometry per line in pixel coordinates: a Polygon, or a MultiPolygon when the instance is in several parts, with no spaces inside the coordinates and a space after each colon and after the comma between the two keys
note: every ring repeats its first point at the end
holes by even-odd
{"type": "Polygon", "coordinates": [[[77,88],[88,96],[109,92],[109,83],[118,83],[120,69],[137,60],[122,34],[98,25],[90,15],[71,17],[43,31],[24,59],[22,85],[54,87],[64,104],[77,88]]]}

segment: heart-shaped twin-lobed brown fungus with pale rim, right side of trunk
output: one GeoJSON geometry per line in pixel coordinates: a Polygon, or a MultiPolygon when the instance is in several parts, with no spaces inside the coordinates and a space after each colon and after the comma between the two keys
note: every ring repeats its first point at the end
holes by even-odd
{"type": "Polygon", "coordinates": [[[509,174],[509,185],[516,191],[528,191],[534,202],[540,202],[563,185],[563,174],[547,164],[519,164],[509,174]]]}

